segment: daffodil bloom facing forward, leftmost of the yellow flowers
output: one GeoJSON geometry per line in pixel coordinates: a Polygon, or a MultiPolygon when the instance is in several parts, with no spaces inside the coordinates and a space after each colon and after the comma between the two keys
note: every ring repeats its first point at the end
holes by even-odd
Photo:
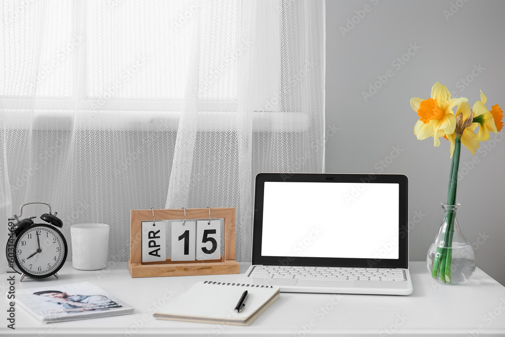
{"type": "Polygon", "coordinates": [[[420,117],[414,126],[417,139],[433,137],[434,146],[440,146],[438,138],[454,133],[456,128],[456,117],[452,108],[463,102],[468,102],[468,99],[451,99],[449,90],[439,82],[433,84],[431,98],[427,100],[412,98],[411,107],[420,117]]]}

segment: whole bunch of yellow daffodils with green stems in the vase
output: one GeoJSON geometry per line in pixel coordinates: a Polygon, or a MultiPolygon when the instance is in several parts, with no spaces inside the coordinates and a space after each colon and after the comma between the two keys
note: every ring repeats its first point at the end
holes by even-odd
{"type": "MultiPolygon", "coordinates": [[[[431,98],[422,100],[414,97],[411,99],[411,107],[417,112],[419,120],[414,126],[414,134],[418,139],[428,137],[435,138],[435,146],[440,145],[439,137],[450,141],[450,157],[452,158],[449,173],[449,186],[447,188],[447,202],[445,205],[456,205],[456,190],[458,186],[458,170],[460,165],[461,145],[463,144],[470,152],[475,154],[479,148],[479,141],[489,139],[489,131],[498,133],[503,128],[503,112],[496,104],[491,111],[487,110],[486,96],[480,92],[480,101],[470,109],[468,100],[465,98],[451,99],[449,90],[436,82],[431,88],[431,98]],[[452,108],[458,106],[456,115],[452,108]],[[475,130],[479,127],[478,134],[475,130]]],[[[431,276],[442,283],[456,283],[459,279],[468,279],[461,275],[453,277],[452,239],[455,226],[455,217],[446,213],[441,242],[436,252],[429,253],[433,257],[428,261],[431,276]],[[434,253],[434,254],[432,254],[434,253]],[[431,263],[431,264],[430,264],[431,263]]],[[[442,227],[441,227],[442,228],[442,227]]],[[[442,230],[442,229],[441,229],[442,230]]],[[[456,270],[456,269],[455,269],[456,270]]],[[[457,271],[459,272],[459,271],[457,271]]],[[[461,273],[460,273],[461,274],[461,273]]]]}

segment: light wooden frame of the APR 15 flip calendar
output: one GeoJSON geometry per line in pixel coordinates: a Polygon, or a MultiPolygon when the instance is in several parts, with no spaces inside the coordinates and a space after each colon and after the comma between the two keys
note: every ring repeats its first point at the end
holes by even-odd
{"type": "MultiPolygon", "coordinates": [[[[211,208],[213,219],[224,219],[224,255],[219,260],[142,262],[142,221],[153,221],[153,210],[132,210],[130,218],[131,277],[238,274],[235,261],[235,208],[211,208]]],[[[154,210],[156,221],[184,219],[184,210],[154,210]]],[[[186,209],[186,219],[208,219],[208,208],[186,209]]]]}

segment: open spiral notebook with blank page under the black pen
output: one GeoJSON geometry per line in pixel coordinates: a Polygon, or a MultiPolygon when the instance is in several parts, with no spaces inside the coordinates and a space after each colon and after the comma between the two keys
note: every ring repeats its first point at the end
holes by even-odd
{"type": "Polygon", "coordinates": [[[205,281],[191,286],[153,316],[187,322],[249,325],[279,298],[279,287],[205,281]],[[244,308],[235,307],[247,290],[244,308]]]}

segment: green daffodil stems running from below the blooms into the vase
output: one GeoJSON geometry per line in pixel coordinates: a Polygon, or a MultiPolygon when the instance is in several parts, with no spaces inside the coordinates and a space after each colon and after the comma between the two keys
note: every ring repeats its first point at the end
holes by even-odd
{"type": "MultiPolygon", "coordinates": [[[[458,187],[458,169],[460,166],[461,136],[456,136],[454,153],[449,173],[449,187],[447,189],[447,205],[456,205],[456,189],[458,187]]],[[[452,261],[452,235],[454,233],[454,219],[456,210],[446,212],[444,222],[447,228],[442,239],[442,247],[437,247],[431,276],[440,277],[442,282],[450,283],[450,264],[452,261]]]]}

